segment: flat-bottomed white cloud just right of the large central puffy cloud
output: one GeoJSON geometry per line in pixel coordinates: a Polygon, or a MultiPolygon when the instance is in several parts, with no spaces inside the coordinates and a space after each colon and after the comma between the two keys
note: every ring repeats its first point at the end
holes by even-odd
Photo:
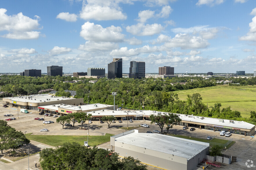
{"type": "Polygon", "coordinates": [[[126,31],[137,36],[152,36],[159,34],[164,27],[161,24],[143,24],[138,23],[137,25],[131,25],[126,27],[126,31]]]}

